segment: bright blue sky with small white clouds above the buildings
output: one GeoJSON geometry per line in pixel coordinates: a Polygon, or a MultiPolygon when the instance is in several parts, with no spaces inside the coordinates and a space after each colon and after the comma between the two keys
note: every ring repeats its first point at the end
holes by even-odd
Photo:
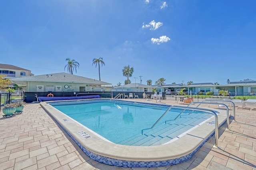
{"type": "Polygon", "coordinates": [[[64,72],[113,86],[256,80],[255,0],[2,0],[0,63],[35,75],[64,72]],[[66,70],[67,72],[67,70],[66,70]],[[137,78],[134,78],[137,77],[137,78]]]}

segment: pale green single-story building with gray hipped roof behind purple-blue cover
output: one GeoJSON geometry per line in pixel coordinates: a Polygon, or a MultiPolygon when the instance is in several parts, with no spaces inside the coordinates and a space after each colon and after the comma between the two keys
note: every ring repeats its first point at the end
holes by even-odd
{"type": "Polygon", "coordinates": [[[26,92],[104,92],[110,83],[68,73],[44,74],[13,78],[13,83],[26,87],[26,92]]]}

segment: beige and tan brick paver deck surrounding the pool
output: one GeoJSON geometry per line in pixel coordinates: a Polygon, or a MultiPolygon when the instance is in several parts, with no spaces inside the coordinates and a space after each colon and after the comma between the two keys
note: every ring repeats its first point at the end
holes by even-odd
{"type": "MultiPolygon", "coordinates": [[[[143,99],[130,100],[145,102],[143,99]]],[[[148,102],[156,103],[156,100],[148,102]]],[[[174,100],[162,100],[161,103],[178,105],[174,100]]],[[[230,113],[233,115],[232,108],[230,113]]],[[[233,117],[230,122],[232,120],[233,117]]],[[[256,109],[252,107],[236,108],[236,121],[230,123],[230,130],[226,129],[226,124],[219,129],[220,149],[212,147],[213,136],[190,160],[158,168],[121,168],[90,159],[40,104],[26,104],[23,113],[2,117],[0,127],[1,170],[256,170],[256,109]]]]}

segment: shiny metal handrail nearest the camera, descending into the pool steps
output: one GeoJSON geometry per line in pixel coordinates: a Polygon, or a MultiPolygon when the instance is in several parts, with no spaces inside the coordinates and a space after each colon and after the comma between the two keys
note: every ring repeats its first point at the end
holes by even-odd
{"type": "MultiPolygon", "coordinates": [[[[215,117],[215,147],[218,148],[218,134],[219,134],[219,129],[218,129],[218,115],[210,110],[210,109],[203,109],[203,108],[196,108],[196,107],[184,107],[184,106],[170,106],[165,112],[164,114],[156,121],[156,123],[154,123],[154,125],[151,127],[151,128],[148,128],[148,129],[152,129],[159,121],[160,119],[162,119],[162,117],[164,117],[164,115],[166,115],[166,113],[171,109],[171,108],[178,108],[178,109],[192,109],[192,110],[198,110],[198,111],[206,111],[206,112],[210,112],[214,115],[215,117]]],[[[183,112],[183,111],[182,111],[183,112]]],[[[142,129],[141,133],[143,135],[143,131],[144,130],[147,130],[147,129],[142,129]]]]}

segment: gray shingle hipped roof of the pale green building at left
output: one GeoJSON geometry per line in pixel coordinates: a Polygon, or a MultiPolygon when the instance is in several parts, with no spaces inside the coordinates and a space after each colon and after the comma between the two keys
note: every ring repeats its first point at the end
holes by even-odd
{"type": "Polygon", "coordinates": [[[86,83],[86,84],[100,84],[100,85],[110,85],[110,83],[102,82],[92,78],[86,78],[82,76],[76,76],[74,74],[68,74],[65,72],[44,74],[39,76],[27,76],[20,78],[13,78],[15,81],[35,81],[35,82],[72,82],[72,83],[86,83]]]}

